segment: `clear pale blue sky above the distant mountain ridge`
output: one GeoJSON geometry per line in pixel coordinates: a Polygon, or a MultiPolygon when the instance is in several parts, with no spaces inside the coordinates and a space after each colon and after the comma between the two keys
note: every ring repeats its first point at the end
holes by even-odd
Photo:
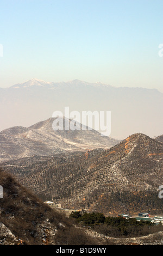
{"type": "Polygon", "coordinates": [[[0,0],[0,87],[78,79],[163,93],[162,13],[162,0],[0,0]]]}

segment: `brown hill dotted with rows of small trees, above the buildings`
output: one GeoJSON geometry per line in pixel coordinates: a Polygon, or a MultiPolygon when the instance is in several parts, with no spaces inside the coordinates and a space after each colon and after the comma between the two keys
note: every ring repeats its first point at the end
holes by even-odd
{"type": "Polygon", "coordinates": [[[4,166],[41,198],[65,207],[116,215],[163,214],[163,145],[142,133],[114,147],[46,159],[30,157],[4,166]]]}

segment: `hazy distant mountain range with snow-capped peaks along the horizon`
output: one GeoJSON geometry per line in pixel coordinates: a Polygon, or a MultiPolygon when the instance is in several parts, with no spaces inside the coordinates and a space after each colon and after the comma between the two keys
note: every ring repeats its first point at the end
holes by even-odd
{"type": "MultiPolygon", "coordinates": [[[[142,86],[142,85],[140,85],[142,86]]],[[[45,82],[32,79],[0,88],[0,130],[52,117],[54,111],[111,111],[111,137],[123,139],[141,132],[162,133],[163,94],[156,89],[115,88],[102,83],[45,82]]]]}

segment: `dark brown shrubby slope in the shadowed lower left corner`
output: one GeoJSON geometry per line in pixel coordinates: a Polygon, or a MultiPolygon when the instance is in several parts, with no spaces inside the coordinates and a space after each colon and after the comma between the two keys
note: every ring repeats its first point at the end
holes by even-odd
{"type": "Polygon", "coordinates": [[[2,170],[0,184],[0,245],[100,244],[2,170]]]}

